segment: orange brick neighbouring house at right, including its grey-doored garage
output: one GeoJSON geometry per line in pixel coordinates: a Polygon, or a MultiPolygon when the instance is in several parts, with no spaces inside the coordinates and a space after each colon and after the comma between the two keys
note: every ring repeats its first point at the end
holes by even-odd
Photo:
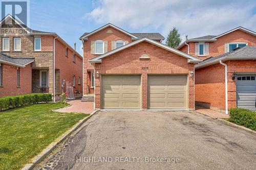
{"type": "Polygon", "coordinates": [[[203,60],[195,65],[196,105],[226,113],[233,107],[255,110],[255,45],[256,33],[238,27],[187,39],[177,47],[203,60]]]}

